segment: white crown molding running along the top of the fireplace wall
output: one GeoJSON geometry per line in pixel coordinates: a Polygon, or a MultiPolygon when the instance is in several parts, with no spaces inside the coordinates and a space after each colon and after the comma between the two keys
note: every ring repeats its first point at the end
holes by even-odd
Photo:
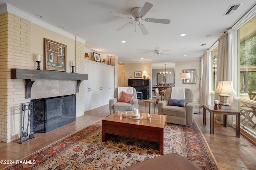
{"type": "Polygon", "coordinates": [[[36,25],[39,25],[41,27],[44,27],[46,29],[49,29],[51,31],[54,31],[60,35],[63,35],[65,37],[68,37],[70,39],[73,39],[75,41],[79,41],[81,43],[85,43],[86,40],[80,38],[80,37],[77,37],[76,35],[73,35],[71,33],[68,33],[58,27],[55,27],[53,25],[50,25],[49,23],[46,23],[45,21],[42,21],[42,20],[39,20],[38,18],[36,18],[35,16],[31,15],[31,14],[28,14],[27,12],[24,12],[14,6],[11,6],[10,4],[2,4],[0,5],[0,14],[4,14],[6,12],[10,12],[16,16],[19,16],[21,18],[24,18],[28,21],[31,21],[31,23],[34,23],[36,25]]]}

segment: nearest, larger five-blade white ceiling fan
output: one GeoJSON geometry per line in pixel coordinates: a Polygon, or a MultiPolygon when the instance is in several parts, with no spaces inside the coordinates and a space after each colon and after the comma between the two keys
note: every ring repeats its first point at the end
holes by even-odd
{"type": "MultiPolygon", "coordinates": [[[[135,20],[122,25],[121,27],[117,28],[116,31],[120,31],[120,30],[124,29],[125,27],[133,24],[136,21],[136,22],[138,22],[138,25],[139,25],[140,30],[142,31],[142,33],[144,35],[147,35],[148,31],[147,31],[145,25],[142,23],[142,21],[169,24],[170,20],[156,19],[156,18],[146,18],[146,19],[142,18],[148,13],[148,11],[152,8],[152,6],[153,5],[151,3],[146,2],[142,8],[140,8],[140,7],[133,8],[132,9],[132,16],[135,20]]],[[[110,12],[109,15],[128,18],[128,19],[133,19],[131,16],[127,16],[127,15],[124,15],[124,14],[118,14],[118,13],[114,13],[114,12],[110,12]]]]}

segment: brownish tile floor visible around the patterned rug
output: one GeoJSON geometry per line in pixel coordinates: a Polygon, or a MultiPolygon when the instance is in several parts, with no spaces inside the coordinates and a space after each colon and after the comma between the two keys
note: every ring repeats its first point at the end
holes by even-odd
{"type": "MultiPolygon", "coordinates": [[[[140,111],[144,112],[144,100],[139,100],[140,111]]],[[[150,106],[150,113],[153,113],[153,104],[150,106]]],[[[148,104],[146,104],[148,112],[148,104]]],[[[157,114],[157,106],[155,108],[157,114]]],[[[84,116],[76,118],[75,122],[52,130],[48,133],[36,133],[36,139],[24,144],[17,141],[11,143],[0,142],[0,160],[20,160],[37,150],[40,150],[51,143],[54,143],[79,129],[90,125],[109,114],[108,105],[86,111],[84,116]]],[[[222,127],[215,124],[215,134],[210,134],[209,113],[206,125],[203,125],[203,115],[194,114],[194,120],[198,124],[200,131],[204,134],[206,141],[214,157],[217,160],[220,170],[256,170],[256,147],[246,140],[242,135],[235,137],[235,129],[232,127],[222,127]]],[[[0,169],[7,165],[0,164],[0,169]]]]}

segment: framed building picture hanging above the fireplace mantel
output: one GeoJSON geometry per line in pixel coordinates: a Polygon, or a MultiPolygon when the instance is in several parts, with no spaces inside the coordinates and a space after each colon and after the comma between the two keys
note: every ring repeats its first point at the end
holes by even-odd
{"type": "Polygon", "coordinates": [[[44,70],[66,72],[67,46],[44,38],[44,70]]]}

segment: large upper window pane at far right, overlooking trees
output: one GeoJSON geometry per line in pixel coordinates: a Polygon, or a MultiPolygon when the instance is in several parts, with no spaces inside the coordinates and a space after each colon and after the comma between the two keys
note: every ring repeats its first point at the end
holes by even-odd
{"type": "Polygon", "coordinates": [[[256,93],[256,16],[238,29],[237,35],[240,97],[249,99],[248,92],[256,93]]]}

